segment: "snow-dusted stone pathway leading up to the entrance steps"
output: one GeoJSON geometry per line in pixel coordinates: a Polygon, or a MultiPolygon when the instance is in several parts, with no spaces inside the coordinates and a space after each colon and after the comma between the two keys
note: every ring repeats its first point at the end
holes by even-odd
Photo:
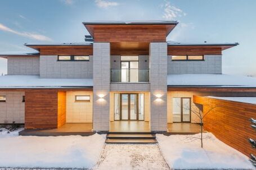
{"type": "Polygon", "coordinates": [[[158,144],[105,144],[94,168],[100,169],[170,169],[158,144]]]}

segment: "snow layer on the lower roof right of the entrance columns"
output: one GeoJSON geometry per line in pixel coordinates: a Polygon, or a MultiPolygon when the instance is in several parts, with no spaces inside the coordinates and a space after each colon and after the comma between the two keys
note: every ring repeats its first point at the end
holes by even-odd
{"type": "Polygon", "coordinates": [[[225,74],[181,74],[168,75],[168,86],[236,86],[255,87],[256,78],[225,74]]]}

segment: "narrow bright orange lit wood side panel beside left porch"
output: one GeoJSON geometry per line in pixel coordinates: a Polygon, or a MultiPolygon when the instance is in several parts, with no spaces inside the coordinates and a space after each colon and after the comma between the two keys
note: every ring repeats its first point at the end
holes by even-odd
{"type": "Polygon", "coordinates": [[[66,123],[66,92],[58,92],[58,127],[66,123]]]}

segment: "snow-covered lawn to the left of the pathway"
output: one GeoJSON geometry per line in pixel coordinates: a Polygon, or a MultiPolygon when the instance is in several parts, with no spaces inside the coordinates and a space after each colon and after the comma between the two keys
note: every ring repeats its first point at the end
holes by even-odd
{"type": "Polygon", "coordinates": [[[105,135],[17,136],[0,132],[0,167],[92,168],[100,157],[105,135]]]}

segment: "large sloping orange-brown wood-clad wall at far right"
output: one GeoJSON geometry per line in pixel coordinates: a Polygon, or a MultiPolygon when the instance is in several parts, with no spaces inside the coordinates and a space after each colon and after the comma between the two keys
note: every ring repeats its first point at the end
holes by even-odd
{"type": "Polygon", "coordinates": [[[194,96],[194,103],[203,105],[203,112],[214,108],[204,118],[204,129],[219,140],[249,156],[256,154],[248,139],[256,139],[250,118],[256,118],[256,105],[194,96]]]}

